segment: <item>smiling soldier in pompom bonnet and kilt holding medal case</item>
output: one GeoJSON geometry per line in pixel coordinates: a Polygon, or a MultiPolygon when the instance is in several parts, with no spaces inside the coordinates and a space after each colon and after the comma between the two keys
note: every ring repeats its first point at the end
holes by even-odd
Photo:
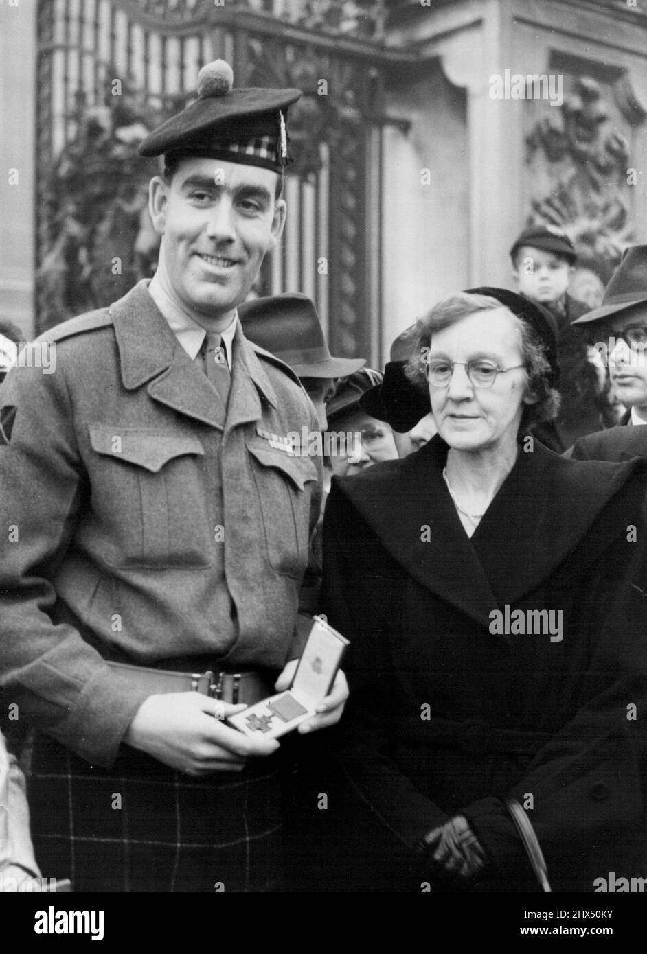
{"type": "MultiPolygon", "coordinates": [[[[149,135],[157,273],[3,384],[0,678],[37,730],[32,832],[77,891],[281,887],[279,743],[224,719],[286,688],[320,512],[297,376],[237,308],[282,233],[298,90],[198,99],[149,135]]],[[[343,674],[300,731],[336,722],[343,674]]]]}

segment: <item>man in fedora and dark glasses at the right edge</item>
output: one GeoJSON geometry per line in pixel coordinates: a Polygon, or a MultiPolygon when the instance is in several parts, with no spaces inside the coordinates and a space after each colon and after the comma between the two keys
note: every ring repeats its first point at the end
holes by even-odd
{"type": "Polygon", "coordinates": [[[602,304],[576,324],[591,329],[598,360],[609,368],[618,400],[628,408],[619,425],[575,442],[572,456],[624,460],[647,456],[647,245],[631,245],[602,304]]]}

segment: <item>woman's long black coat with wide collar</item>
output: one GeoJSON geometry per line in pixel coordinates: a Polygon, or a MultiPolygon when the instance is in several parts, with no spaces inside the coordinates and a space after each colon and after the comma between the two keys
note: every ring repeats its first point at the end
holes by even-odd
{"type": "Polygon", "coordinates": [[[539,890],[508,796],[553,890],[647,875],[647,468],[523,446],[471,538],[439,436],[333,480],[324,608],[351,641],[335,752],[384,849],[355,860],[357,889],[382,866],[393,890],[420,891],[414,846],[462,813],[490,860],[484,889],[539,890]],[[561,639],[531,610],[561,612],[561,639]]]}

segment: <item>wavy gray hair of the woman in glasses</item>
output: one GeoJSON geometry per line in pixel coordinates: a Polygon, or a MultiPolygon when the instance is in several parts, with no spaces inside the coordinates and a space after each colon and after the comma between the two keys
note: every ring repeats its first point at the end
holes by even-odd
{"type": "Polygon", "coordinates": [[[530,427],[542,421],[553,421],[559,410],[559,391],[551,386],[551,365],[536,332],[526,322],[511,312],[510,308],[490,295],[470,295],[459,292],[438,301],[417,321],[415,352],[407,362],[407,378],[422,391],[428,390],[427,356],[431,335],[434,331],[449,328],[462,318],[479,311],[494,311],[503,308],[516,322],[519,330],[521,360],[528,373],[528,393],[536,399],[536,404],[524,404],[521,426],[530,427]]]}

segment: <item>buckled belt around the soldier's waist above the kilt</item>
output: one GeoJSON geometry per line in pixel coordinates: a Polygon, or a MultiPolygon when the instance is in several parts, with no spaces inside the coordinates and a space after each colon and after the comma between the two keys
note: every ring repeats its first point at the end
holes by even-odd
{"type": "Polygon", "coordinates": [[[108,662],[117,670],[129,670],[136,674],[140,684],[150,687],[151,695],[163,693],[201,693],[211,695],[222,702],[247,706],[260,702],[274,692],[270,682],[259,673],[225,673],[207,670],[204,673],[179,673],[149,666],[133,666],[130,663],[108,662]]]}

